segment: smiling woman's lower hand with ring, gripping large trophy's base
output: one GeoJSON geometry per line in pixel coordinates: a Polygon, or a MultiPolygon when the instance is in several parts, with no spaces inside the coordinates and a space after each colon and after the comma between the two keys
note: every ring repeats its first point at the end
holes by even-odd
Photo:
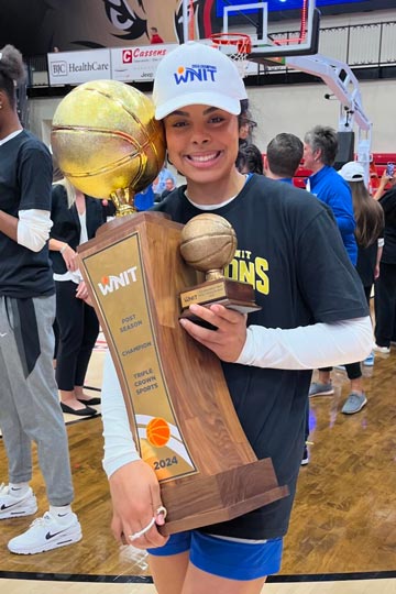
{"type": "Polygon", "coordinates": [[[133,544],[138,549],[163,547],[167,537],[163,537],[156,526],[165,524],[163,514],[157,510],[162,506],[160,484],[152,468],[135,460],[121,466],[109,479],[113,517],[111,529],[118,542],[133,544]],[[131,536],[150,525],[154,526],[144,535],[131,540],[131,536]]]}

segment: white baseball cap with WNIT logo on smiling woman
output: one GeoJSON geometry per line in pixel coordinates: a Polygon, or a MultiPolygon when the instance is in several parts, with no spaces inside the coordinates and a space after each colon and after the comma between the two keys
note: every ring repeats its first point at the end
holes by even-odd
{"type": "Polygon", "coordinates": [[[155,119],[176,109],[202,105],[238,116],[246,89],[234,63],[209,45],[187,42],[167,54],[155,73],[155,119]]]}

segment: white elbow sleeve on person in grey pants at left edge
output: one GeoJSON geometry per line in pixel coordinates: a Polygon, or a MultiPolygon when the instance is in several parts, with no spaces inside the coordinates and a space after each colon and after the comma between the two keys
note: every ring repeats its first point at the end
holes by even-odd
{"type": "Polygon", "coordinates": [[[50,238],[53,226],[48,210],[20,210],[18,213],[16,240],[32,252],[40,252],[50,238]]]}

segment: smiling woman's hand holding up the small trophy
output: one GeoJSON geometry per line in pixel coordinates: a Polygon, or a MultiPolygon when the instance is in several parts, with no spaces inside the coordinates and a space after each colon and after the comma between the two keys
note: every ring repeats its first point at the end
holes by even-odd
{"type": "Polygon", "coordinates": [[[189,309],[191,314],[211,323],[217,330],[208,330],[182,318],[180,324],[186,332],[213,351],[221,361],[235,362],[246,341],[246,316],[216,304],[209,308],[194,305],[189,309]]]}

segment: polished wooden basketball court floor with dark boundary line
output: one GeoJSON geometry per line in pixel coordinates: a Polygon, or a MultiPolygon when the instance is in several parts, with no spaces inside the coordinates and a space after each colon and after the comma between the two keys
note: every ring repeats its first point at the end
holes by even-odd
{"type": "MultiPolygon", "coordinates": [[[[95,352],[87,385],[100,388],[103,352],[95,352]]],[[[310,461],[301,468],[282,572],[267,594],[396,594],[396,345],[365,367],[367,406],[344,416],[348,380],[333,372],[336,393],[310,400],[310,461]]],[[[146,556],[119,547],[101,469],[100,417],[67,425],[79,543],[35,556],[14,556],[7,542],[33,518],[0,522],[0,588],[9,594],[152,594],[146,556]]],[[[34,454],[35,459],[35,454],[34,454]]],[[[36,460],[36,459],[35,459],[36,460]]],[[[0,440],[0,480],[7,459],[0,440]]],[[[34,464],[32,486],[46,510],[34,464]]]]}

